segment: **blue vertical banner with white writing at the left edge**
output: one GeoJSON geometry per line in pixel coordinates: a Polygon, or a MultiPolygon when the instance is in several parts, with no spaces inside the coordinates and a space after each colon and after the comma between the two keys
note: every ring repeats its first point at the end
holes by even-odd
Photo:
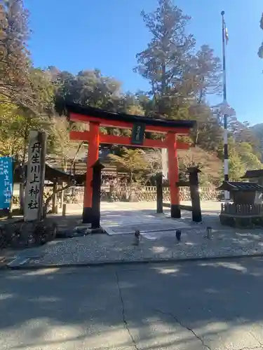
{"type": "Polygon", "coordinates": [[[0,157],[0,209],[10,207],[13,195],[12,157],[0,157]]]}

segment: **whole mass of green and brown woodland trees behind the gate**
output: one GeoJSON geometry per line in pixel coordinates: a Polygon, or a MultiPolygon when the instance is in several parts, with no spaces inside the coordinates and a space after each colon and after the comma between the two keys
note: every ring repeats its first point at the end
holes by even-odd
{"type": "MultiPolygon", "coordinates": [[[[76,151],[81,148],[81,144],[69,141],[69,130],[83,127],[69,123],[61,115],[62,102],[69,101],[141,116],[196,120],[196,130],[188,141],[197,147],[198,159],[187,153],[180,164],[204,164],[205,159],[213,157],[216,166],[213,169],[210,162],[211,174],[221,179],[222,116],[209,104],[211,95],[222,92],[220,58],[205,43],[201,47],[196,45],[194,33],[188,31],[191,17],[174,6],[173,1],[159,0],[154,13],[142,11],[141,18],[151,41],[145,43],[142,52],[134,52],[137,54],[134,73],[149,82],[149,90],[131,93],[123,91],[117,79],[104,75],[100,69],[83,67],[74,75],[52,66],[52,62],[44,68],[35,67],[27,50],[29,13],[22,0],[1,2],[0,155],[12,155],[25,162],[29,130],[37,128],[46,130],[48,152],[56,153],[64,164],[69,148],[76,151]]],[[[234,117],[229,122],[229,177],[237,180],[246,169],[262,167],[262,148],[260,137],[248,123],[240,123],[234,117]]],[[[121,148],[112,148],[112,152],[122,155],[121,148]]]]}

